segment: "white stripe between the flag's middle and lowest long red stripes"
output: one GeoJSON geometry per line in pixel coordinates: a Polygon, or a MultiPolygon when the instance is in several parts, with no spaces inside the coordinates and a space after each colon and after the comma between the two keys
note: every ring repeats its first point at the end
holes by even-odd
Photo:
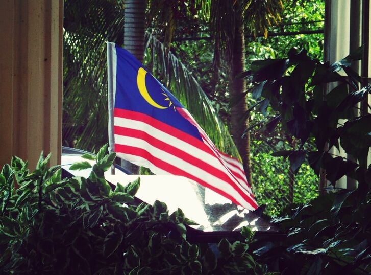
{"type": "MultiPolygon", "coordinates": [[[[162,161],[176,166],[179,169],[191,174],[195,175],[197,178],[200,178],[204,180],[205,182],[208,182],[209,185],[214,186],[228,194],[232,194],[232,192],[237,193],[233,189],[233,187],[226,181],[210,174],[209,172],[201,169],[200,167],[194,166],[186,161],[184,161],[182,158],[177,157],[176,155],[170,154],[166,151],[163,151],[157,147],[152,146],[150,143],[137,139],[134,137],[128,137],[128,136],[122,136],[115,134],[115,142],[116,144],[122,144],[122,145],[130,145],[132,147],[142,148],[146,150],[147,152],[150,152],[153,156],[161,159],[162,161]]],[[[198,158],[196,155],[193,154],[194,157],[198,158]]],[[[217,159],[215,159],[214,163],[219,163],[217,159]]],[[[214,165],[213,165],[214,166],[214,165]]],[[[246,191],[245,189],[241,188],[239,185],[236,185],[237,188],[239,188],[246,196],[249,196],[251,199],[251,194],[246,191]]],[[[238,195],[240,196],[240,195],[238,195]]],[[[233,196],[235,197],[235,196],[233,196]]]]}

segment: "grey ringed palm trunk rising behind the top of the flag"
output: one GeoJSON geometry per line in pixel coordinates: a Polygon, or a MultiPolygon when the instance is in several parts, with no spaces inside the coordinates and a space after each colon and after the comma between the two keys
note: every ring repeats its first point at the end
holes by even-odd
{"type": "MultiPolygon", "coordinates": [[[[126,0],[124,16],[123,47],[143,62],[145,0],[126,0]]],[[[139,174],[139,167],[128,161],[121,160],[121,166],[139,174]]]]}

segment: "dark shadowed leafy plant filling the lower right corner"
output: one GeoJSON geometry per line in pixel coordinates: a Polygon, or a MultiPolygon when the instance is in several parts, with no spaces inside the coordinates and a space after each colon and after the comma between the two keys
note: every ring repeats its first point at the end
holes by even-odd
{"type": "Polygon", "coordinates": [[[286,237],[258,242],[254,254],[286,274],[369,274],[370,199],[370,192],[342,190],[289,209],[273,220],[286,237]]]}

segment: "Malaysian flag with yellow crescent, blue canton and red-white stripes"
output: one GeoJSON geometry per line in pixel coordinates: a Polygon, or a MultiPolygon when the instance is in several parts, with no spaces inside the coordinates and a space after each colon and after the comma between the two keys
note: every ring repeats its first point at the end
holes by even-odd
{"type": "MultiPolygon", "coordinates": [[[[221,153],[184,106],[127,50],[112,54],[114,151],[157,175],[179,175],[258,207],[237,159],[221,153]]],[[[175,182],[176,184],[176,182],[175,182]]]]}

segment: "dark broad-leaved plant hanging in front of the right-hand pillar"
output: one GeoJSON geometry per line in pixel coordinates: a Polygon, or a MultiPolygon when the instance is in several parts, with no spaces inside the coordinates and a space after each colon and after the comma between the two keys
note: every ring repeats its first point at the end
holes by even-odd
{"type": "Polygon", "coordinates": [[[369,108],[365,100],[371,86],[363,87],[361,78],[350,67],[362,53],[363,47],[330,65],[311,59],[306,51],[291,49],[288,58],[252,63],[249,73],[257,83],[252,90],[253,97],[264,99],[276,112],[252,128],[265,125],[269,132],[281,124],[282,129],[298,141],[295,150],[273,153],[288,158],[295,173],[308,157],[317,174],[321,168],[326,170],[331,184],[348,175],[358,180],[362,188],[368,188],[365,174],[371,146],[371,115],[363,107],[360,111],[358,103],[363,102],[362,105],[365,103],[366,109],[369,108]],[[344,70],[348,78],[341,76],[340,70],[344,70]],[[325,95],[328,83],[333,83],[333,88],[325,95]],[[315,144],[314,150],[304,148],[310,142],[315,144]],[[332,147],[339,150],[340,146],[353,159],[330,152],[332,147]]]}

